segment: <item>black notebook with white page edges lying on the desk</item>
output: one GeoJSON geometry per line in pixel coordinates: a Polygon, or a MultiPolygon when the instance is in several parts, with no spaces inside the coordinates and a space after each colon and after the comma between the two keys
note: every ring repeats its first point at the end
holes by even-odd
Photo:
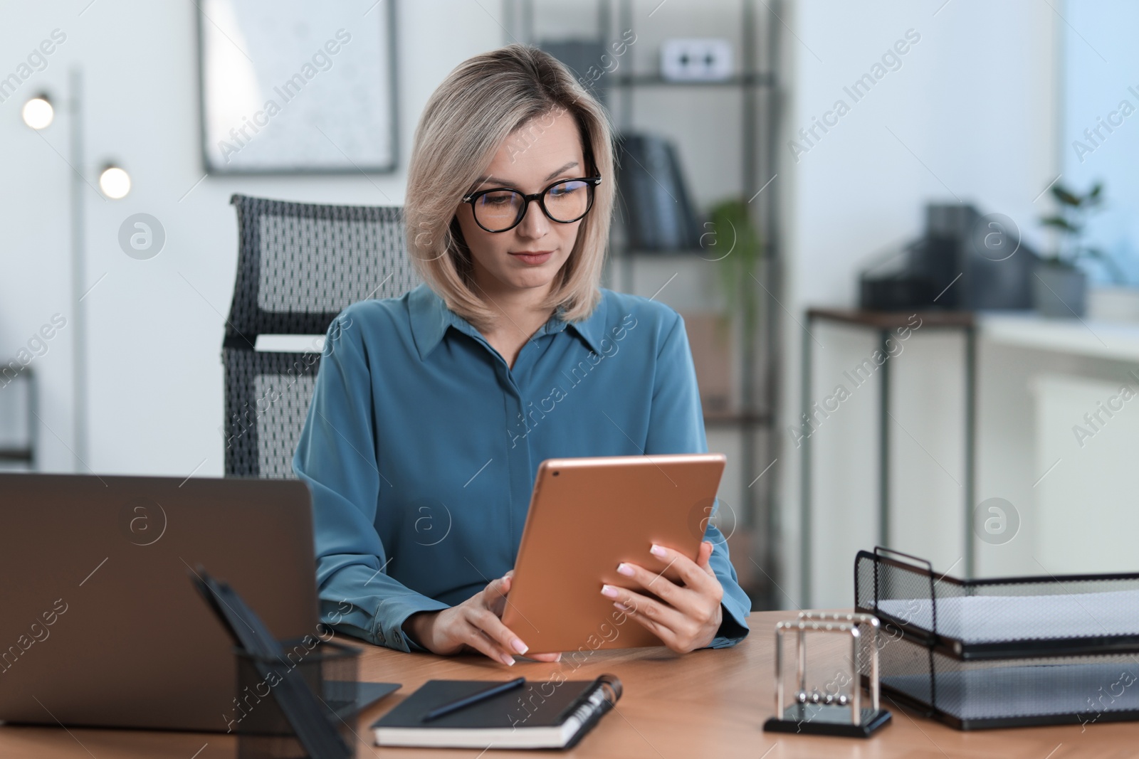
{"type": "Polygon", "coordinates": [[[486,680],[427,680],[372,724],[376,745],[568,749],[621,698],[621,680],[534,680],[424,721],[432,709],[484,690],[486,680]]]}

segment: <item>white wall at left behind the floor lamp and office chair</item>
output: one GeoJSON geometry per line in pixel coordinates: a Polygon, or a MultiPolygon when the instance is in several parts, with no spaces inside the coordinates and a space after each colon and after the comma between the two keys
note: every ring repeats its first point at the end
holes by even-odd
{"type": "MultiPolygon", "coordinates": [[[[131,193],[87,201],[90,453],[98,472],[221,475],[223,314],[237,261],[233,192],[295,200],[401,204],[410,138],[424,102],[458,63],[502,44],[497,2],[400,2],[400,170],[337,178],[206,178],[199,158],[194,2],[90,0],[0,2],[0,76],[52,30],[66,41],[14,97],[0,104],[0,356],[15,354],[55,313],[74,317],[68,267],[66,113],[42,133],[19,109],[34,92],[66,100],[68,69],[81,66],[89,182],[107,160],[125,167],[131,193]],[[192,188],[192,190],[191,190],[192,188]],[[166,245],[150,261],[118,248],[122,221],[156,216],[166,245]]],[[[392,0],[383,0],[391,2],[392,0]]],[[[374,0],[329,3],[338,26],[372,23],[374,0]]],[[[333,23],[333,22],[330,22],[333,23]]],[[[85,288],[84,288],[85,289],[85,288]]],[[[69,449],[72,336],[64,328],[36,357],[41,383],[42,469],[85,471],[69,449]],[[58,436],[58,437],[57,437],[58,436]]],[[[5,390],[0,389],[0,394],[5,390]]]]}

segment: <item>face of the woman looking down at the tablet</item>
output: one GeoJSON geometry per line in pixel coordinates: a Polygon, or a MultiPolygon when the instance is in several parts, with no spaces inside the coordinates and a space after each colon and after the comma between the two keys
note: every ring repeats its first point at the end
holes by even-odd
{"type": "MultiPolygon", "coordinates": [[[[588,176],[588,171],[577,124],[563,108],[513,132],[472,191],[510,188],[531,195],[558,180],[588,176]]],[[[459,204],[456,213],[470,248],[475,281],[499,292],[541,288],[544,294],[570,257],[581,226],[581,220],[570,224],[551,221],[536,200],[528,204],[518,225],[506,232],[480,226],[469,203],[459,204]]]]}

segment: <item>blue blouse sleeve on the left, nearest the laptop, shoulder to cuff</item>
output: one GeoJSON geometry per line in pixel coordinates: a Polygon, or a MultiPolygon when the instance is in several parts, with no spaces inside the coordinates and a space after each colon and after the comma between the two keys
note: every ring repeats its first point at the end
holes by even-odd
{"type": "Polygon", "coordinates": [[[377,465],[372,378],[351,308],[328,329],[312,403],[293,469],[312,493],[321,621],[400,651],[423,649],[403,632],[418,611],[448,604],[390,577],[376,530],[383,477],[377,465]]]}

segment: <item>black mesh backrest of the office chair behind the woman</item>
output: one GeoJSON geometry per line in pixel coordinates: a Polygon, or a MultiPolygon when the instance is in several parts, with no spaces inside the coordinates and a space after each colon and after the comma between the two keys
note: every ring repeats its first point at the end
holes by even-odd
{"type": "Polygon", "coordinates": [[[293,478],[320,368],[300,353],[257,350],[261,335],[322,336],[347,305],[399,297],[420,279],[399,207],[320,206],[235,195],[238,257],[226,321],[227,477],[293,478]]]}

